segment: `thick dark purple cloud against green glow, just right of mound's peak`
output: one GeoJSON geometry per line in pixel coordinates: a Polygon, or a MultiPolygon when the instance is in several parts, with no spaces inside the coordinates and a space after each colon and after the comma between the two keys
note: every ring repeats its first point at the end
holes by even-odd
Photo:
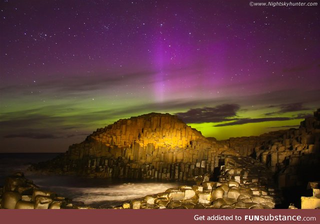
{"type": "Polygon", "coordinates": [[[239,110],[238,104],[222,104],[215,107],[202,107],[189,109],[186,112],[175,113],[186,123],[222,122],[234,120],[239,110]]]}

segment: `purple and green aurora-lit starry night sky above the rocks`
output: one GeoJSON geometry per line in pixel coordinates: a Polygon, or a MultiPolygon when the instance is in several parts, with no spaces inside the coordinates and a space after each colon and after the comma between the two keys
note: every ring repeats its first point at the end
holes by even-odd
{"type": "Polygon", "coordinates": [[[296,127],[320,107],[319,7],[1,0],[0,152],[149,112],[217,139],[296,127]]]}

